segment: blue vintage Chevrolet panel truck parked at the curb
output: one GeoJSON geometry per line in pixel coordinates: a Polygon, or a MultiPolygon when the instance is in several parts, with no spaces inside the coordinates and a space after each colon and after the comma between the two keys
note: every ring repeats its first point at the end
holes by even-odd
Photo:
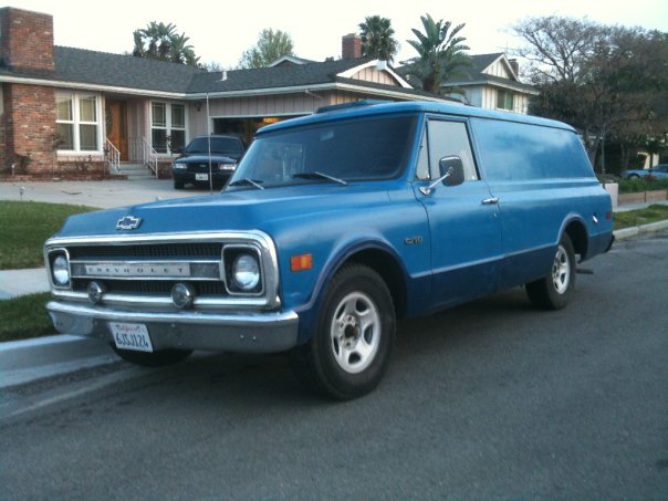
{"type": "Polygon", "coordinates": [[[44,247],[48,310],[142,365],[289,352],[346,399],[380,382],[398,320],[518,285],[563,309],[577,263],[612,243],[610,197],[572,127],[352,103],[258,131],[217,197],[67,219],[44,247]]]}

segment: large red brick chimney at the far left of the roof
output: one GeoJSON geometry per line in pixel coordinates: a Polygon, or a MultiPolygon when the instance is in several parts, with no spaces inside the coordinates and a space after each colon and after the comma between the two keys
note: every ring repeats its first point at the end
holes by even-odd
{"type": "Polygon", "coordinates": [[[53,71],[53,17],[0,9],[0,59],[7,66],[53,71]]]}

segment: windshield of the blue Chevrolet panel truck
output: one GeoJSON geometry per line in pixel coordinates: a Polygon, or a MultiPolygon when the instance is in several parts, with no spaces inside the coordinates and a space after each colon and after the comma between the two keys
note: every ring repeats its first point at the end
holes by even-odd
{"type": "Polygon", "coordinates": [[[346,185],[397,177],[408,163],[416,122],[415,115],[392,115],[261,134],[228,187],[346,185]]]}

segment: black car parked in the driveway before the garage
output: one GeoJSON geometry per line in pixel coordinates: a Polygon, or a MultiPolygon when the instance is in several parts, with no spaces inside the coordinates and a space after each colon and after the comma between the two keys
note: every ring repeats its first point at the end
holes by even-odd
{"type": "Polygon", "coordinates": [[[192,139],[171,166],[174,188],[187,184],[221,187],[237,168],[246,148],[236,136],[199,136],[192,139]]]}

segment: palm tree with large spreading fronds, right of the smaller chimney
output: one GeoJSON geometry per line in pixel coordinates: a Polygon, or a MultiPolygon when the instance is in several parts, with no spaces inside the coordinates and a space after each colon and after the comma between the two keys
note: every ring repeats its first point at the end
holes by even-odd
{"type": "Polygon", "coordinates": [[[471,59],[465,52],[469,48],[462,43],[466,38],[458,36],[466,24],[452,28],[450,21],[443,22],[441,19],[436,22],[429,14],[420,17],[420,20],[425,32],[413,29],[417,40],[408,40],[419,54],[409,60],[413,64],[413,73],[422,82],[425,91],[435,94],[460,92],[443,87],[443,83],[452,76],[462,74],[460,67],[471,65],[471,59]]]}

